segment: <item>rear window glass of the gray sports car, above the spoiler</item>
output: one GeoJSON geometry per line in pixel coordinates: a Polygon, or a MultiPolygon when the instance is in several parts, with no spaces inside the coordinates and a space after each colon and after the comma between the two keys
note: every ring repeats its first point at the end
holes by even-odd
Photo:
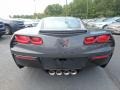
{"type": "Polygon", "coordinates": [[[47,18],[42,22],[44,30],[80,29],[80,20],[75,18],[47,18]]]}

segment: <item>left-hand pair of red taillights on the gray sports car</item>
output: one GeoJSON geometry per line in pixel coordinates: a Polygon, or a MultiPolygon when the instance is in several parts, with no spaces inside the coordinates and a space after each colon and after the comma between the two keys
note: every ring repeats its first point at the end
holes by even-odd
{"type": "Polygon", "coordinates": [[[15,41],[21,44],[34,44],[34,45],[43,44],[43,40],[40,37],[31,37],[31,36],[22,36],[22,35],[16,35],[15,41]]]}

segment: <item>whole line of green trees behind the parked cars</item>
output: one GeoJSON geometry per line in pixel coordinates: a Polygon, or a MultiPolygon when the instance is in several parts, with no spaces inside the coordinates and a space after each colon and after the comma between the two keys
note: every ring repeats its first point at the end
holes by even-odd
{"type": "Polygon", "coordinates": [[[43,18],[46,16],[75,16],[96,18],[120,16],[120,0],[73,0],[63,7],[59,4],[48,5],[44,13],[34,15],[15,15],[17,18],[43,18]]]}

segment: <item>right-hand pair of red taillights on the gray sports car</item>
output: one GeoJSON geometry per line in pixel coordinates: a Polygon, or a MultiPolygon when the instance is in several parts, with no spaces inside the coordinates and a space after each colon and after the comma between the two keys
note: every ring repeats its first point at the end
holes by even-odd
{"type": "Polygon", "coordinates": [[[99,35],[99,36],[91,36],[91,37],[86,37],[84,39],[84,44],[86,45],[91,45],[95,43],[107,43],[110,40],[110,35],[105,34],[105,35],[99,35]]]}

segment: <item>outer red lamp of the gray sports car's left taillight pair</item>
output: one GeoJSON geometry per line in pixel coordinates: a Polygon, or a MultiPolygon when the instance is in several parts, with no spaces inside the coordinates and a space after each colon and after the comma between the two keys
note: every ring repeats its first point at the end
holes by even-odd
{"type": "Polygon", "coordinates": [[[15,40],[22,44],[28,44],[30,42],[30,38],[28,36],[21,36],[21,35],[16,35],[15,40]]]}

